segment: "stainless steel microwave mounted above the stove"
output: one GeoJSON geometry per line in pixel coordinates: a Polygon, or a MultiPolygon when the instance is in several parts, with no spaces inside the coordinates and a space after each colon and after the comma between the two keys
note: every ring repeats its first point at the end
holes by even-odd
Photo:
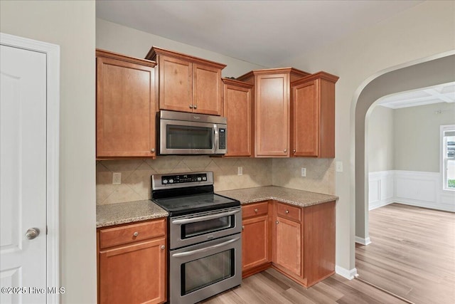
{"type": "Polygon", "coordinates": [[[159,154],[225,154],[226,122],[226,117],[161,110],[159,154]]]}

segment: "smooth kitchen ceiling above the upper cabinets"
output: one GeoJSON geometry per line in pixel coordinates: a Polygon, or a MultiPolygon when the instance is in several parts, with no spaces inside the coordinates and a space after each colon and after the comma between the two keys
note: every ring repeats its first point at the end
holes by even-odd
{"type": "Polygon", "coordinates": [[[423,1],[96,1],[97,18],[277,67],[423,1]]]}

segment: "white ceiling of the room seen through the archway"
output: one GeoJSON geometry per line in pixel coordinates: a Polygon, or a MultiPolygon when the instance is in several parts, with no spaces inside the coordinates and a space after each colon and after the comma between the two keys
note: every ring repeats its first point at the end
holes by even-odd
{"type": "Polygon", "coordinates": [[[455,82],[388,95],[378,105],[399,109],[432,103],[455,103],[455,82]]]}

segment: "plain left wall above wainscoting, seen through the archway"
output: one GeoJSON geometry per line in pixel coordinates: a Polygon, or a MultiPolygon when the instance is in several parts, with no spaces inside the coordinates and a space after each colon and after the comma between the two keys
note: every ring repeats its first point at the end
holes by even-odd
{"type": "Polygon", "coordinates": [[[375,106],[367,121],[368,171],[395,169],[393,110],[381,105],[375,106]]]}

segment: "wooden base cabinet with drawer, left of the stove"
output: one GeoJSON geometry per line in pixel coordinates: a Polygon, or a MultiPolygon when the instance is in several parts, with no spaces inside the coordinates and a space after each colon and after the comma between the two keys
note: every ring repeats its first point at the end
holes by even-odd
{"type": "Polygon", "coordinates": [[[98,229],[98,246],[99,303],[166,301],[166,219],[98,229]]]}

